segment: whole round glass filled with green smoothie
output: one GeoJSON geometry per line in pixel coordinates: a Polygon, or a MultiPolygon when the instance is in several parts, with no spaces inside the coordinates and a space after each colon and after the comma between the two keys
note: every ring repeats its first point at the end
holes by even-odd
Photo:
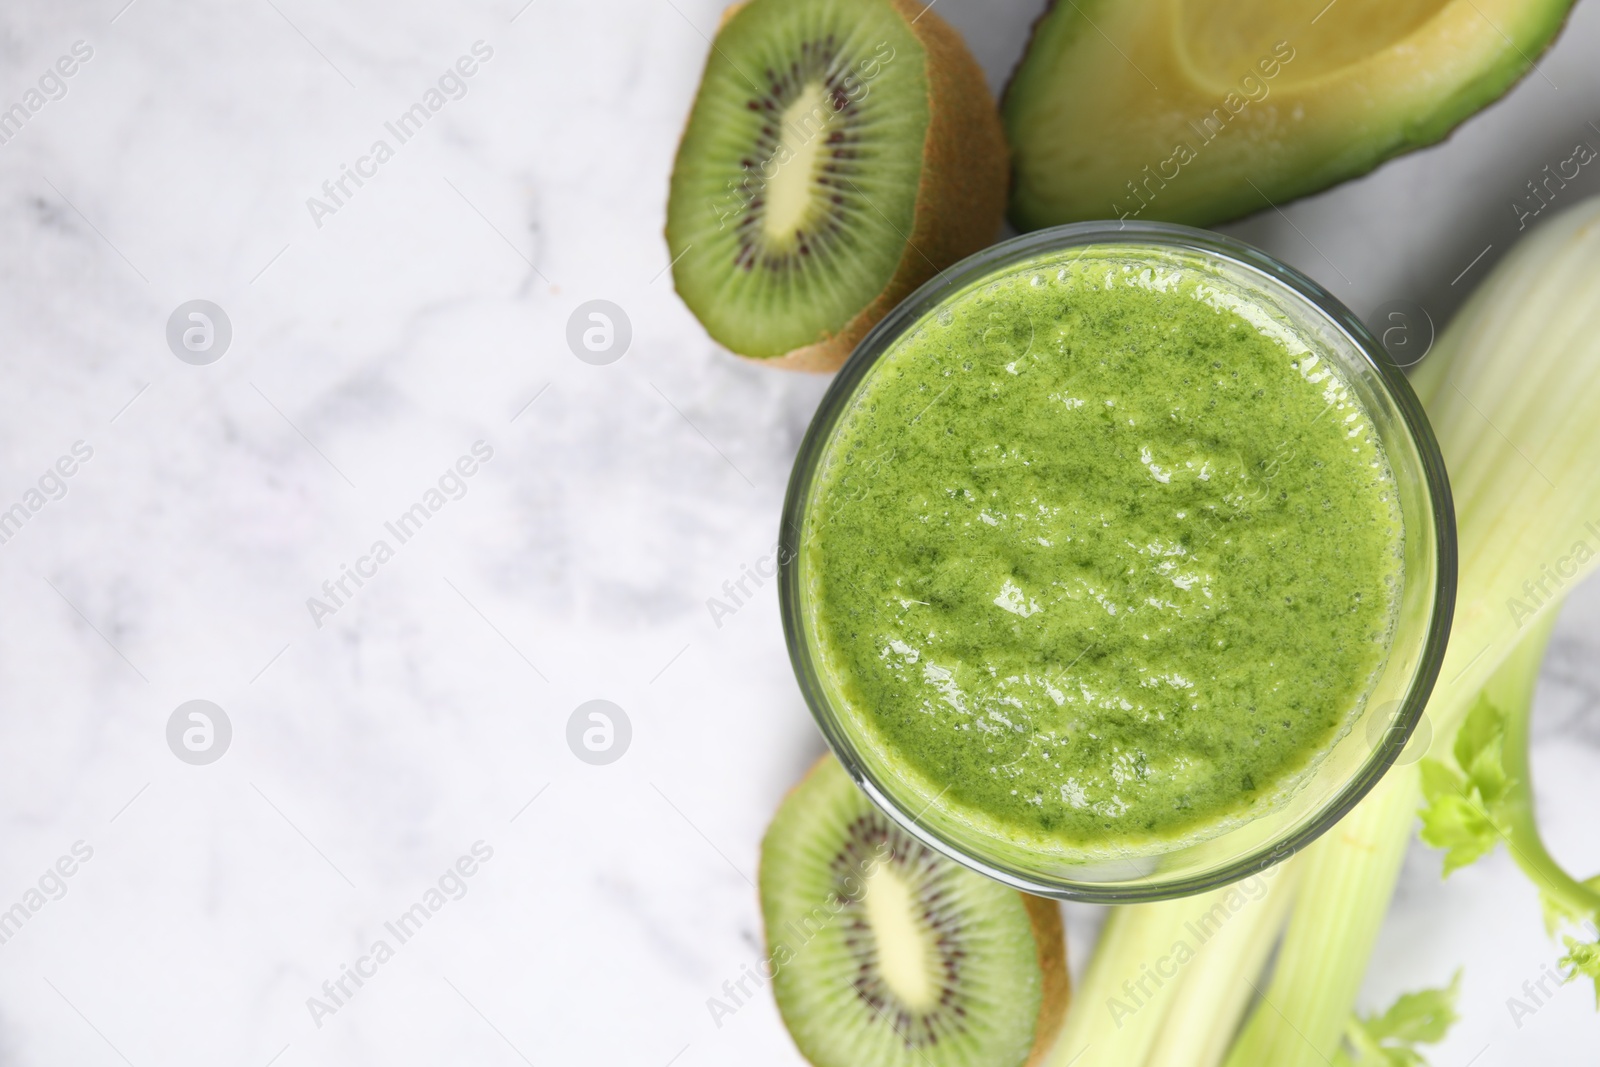
{"type": "Polygon", "coordinates": [[[856,349],[781,531],[827,742],[1019,889],[1195,893],[1344,816],[1405,747],[1454,601],[1405,376],[1216,234],[1080,224],[934,278],[856,349]]]}

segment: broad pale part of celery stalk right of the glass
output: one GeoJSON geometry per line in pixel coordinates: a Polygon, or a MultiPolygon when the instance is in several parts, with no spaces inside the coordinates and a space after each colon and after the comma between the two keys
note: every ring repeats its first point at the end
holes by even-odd
{"type": "Polygon", "coordinates": [[[1517,245],[1413,386],[1459,531],[1454,627],[1429,704],[1440,736],[1600,560],[1600,198],[1517,245]]]}

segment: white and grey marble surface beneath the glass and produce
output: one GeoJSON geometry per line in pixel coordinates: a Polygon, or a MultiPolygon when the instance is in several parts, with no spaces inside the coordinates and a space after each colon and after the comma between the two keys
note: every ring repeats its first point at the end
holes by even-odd
{"type": "MultiPolygon", "coordinates": [[[[0,544],[0,907],[48,889],[0,944],[0,1064],[797,1062],[766,998],[706,1009],[758,957],[757,841],[821,752],[771,584],[720,625],[706,606],[771,550],[826,386],[720,352],[664,277],[720,2],[123,3],[0,13],[0,106],[91,50],[0,144],[0,507],[93,453],[0,544]],[[475,42],[459,99],[314,218],[475,42]],[[192,299],[232,325],[205,366],[165,336],[192,299]],[[566,347],[589,299],[632,322],[616,363],[566,347]],[[363,563],[429,491],[445,506],[363,563]],[[371,576],[333,605],[346,566],[371,576]],[[211,765],[168,747],[194,699],[232,726],[211,765]],[[632,726],[606,766],[566,744],[590,699],[632,726]]],[[[939,5],[997,85],[1037,8],[939,5]]],[[[1600,142],[1597,48],[1587,0],[1446,144],[1230,230],[1358,312],[1443,318],[1522,184],[1600,142]]],[[[1579,870],[1597,621],[1590,584],[1534,753],[1579,870]]],[[[1070,918],[1082,961],[1094,913],[1070,918]]],[[[1442,883],[1416,849],[1363,1003],[1466,966],[1435,1064],[1592,1062],[1584,989],[1507,1014],[1557,955],[1502,854],[1442,883]]]]}

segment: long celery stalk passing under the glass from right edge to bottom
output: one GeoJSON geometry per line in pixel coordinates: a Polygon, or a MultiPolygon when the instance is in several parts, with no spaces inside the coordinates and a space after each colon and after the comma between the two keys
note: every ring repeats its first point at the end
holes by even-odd
{"type": "MultiPolygon", "coordinates": [[[[1459,581],[1427,713],[1450,737],[1526,627],[1600,558],[1600,200],[1541,226],[1472,296],[1413,378],[1450,469],[1459,581]]],[[[1542,648],[1538,633],[1533,645],[1542,648]]],[[[1536,664],[1538,651],[1528,651],[1536,664]]],[[[1526,672],[1525,662],[1507,670],[1526,672]]],[[[1510,685],[1499,678],[1496,685],[1510,685]]],[[[1312,846],[1266,998],[1230,1067],[1323,1064],[1394,891],[1416,768],[1312,846]]],[[[1531,813],[1530,813],[1531,817],[1531,813]]]]}

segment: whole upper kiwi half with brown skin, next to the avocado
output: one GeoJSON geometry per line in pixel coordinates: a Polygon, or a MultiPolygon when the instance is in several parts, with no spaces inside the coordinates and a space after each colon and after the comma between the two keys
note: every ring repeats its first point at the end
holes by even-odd
{"type": "Polygon", "coordinates": [[[995,238],[1008,176],[984,74],[922,3],[750,0],[723,18],[678,144],[672,280],[733,352],[834,370],[995,238]]]}

